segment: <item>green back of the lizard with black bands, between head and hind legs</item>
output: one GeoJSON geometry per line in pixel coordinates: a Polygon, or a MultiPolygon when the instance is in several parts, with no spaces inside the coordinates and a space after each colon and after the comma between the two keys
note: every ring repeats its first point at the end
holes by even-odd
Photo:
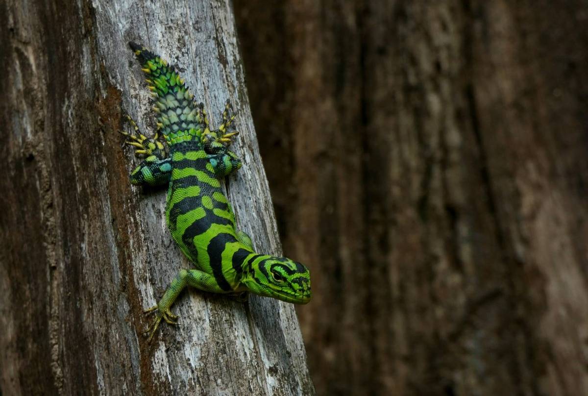
{"type": "Polygon", "coordinates": [[[235,217],[204,149],[195,142],[176,144],[171,158],[166,221],[172,237],[186,257],[229,291],[252,250],[236,235],[235,217]],[[223,260],[235,264],[232,270],[223,269],[223,260]]]}

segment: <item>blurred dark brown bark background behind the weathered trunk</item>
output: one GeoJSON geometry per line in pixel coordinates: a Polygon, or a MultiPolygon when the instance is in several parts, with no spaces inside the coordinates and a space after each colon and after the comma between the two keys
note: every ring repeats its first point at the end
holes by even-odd
{"type": "Polygon", "coordinates": [[[318,394],[588,394],[588,4],[235,13],[318,394]]]}

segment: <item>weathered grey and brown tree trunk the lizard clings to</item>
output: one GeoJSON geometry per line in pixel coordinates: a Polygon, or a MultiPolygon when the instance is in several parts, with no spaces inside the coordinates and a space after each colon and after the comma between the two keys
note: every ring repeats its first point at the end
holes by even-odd
{"type": "Polygon", "coordinates": [[[121,108],[152,134],[129,40],[179,66],[213,124],[238,110],[239,227],[280,253],[228,1],[0,4],[0,393],[312,394],[290,304],[188,291],[151,344],[142,331],[180,268],[165,191],[129,184],[121,108]],[[162,3],[165,4],[165,3],[162,3]]]}

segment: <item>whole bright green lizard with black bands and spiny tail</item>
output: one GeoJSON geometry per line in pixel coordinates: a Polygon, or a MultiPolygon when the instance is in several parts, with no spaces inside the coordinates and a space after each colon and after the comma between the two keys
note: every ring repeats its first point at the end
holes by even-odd
{"type": "Polygon", "coordinates": [[[252,292],[286,302],[310,301],[308,268],[289,258],[258,254],[245,232],[237,231],[235,215],[220,187],[218,178],[241,167],[240,159],[227,146],[238,132],[228,132],[235,116],[230,102],[223,111],[223,123],[211,131],[203,105],[176,68],[143,46],[130,42],[148,75],[158,131],[153,138],[139,132],[126,134],[136,154],[146,158],[131,173],[135,185],[168,185],[165,217],[172,238],[197,269],[181,269],[158,304],[149,327],[149,341],[159,323],[176,324],[170,308],[187,285],[215,293],[252,292]],[[161,132],[169,146],[169,156],[158,141],[161,132]]]}

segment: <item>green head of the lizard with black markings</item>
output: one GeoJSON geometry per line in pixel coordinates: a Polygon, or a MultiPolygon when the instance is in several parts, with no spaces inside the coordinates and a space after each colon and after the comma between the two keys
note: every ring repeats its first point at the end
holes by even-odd
{"type": "Polygon", "coordinates": [[[250,264],[247,272],[242,282],[255,294],[294,304],[310,301],[310,272],[299,262],[262,255],[250,264]]]}

